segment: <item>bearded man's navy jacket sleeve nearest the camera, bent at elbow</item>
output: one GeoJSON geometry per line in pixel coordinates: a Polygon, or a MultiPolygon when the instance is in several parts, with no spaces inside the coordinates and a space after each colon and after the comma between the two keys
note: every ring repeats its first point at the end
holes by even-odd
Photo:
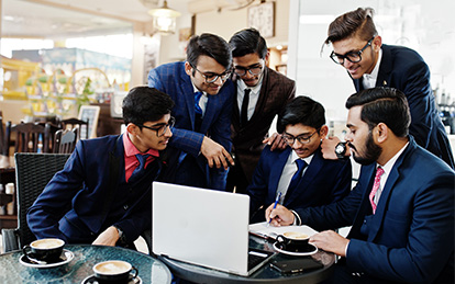
{"type": "Polygon", "coordinates": [[[399,227],[410,221],[404,246],[393,248],[352,239],[346,255],[349,268],[390,281],[432,283],[436,279],[453,257],[454,175],[440,174],[421,184],[421,189],[411,200],[412,216],[389,213],[385,219],[399,227]]]}

